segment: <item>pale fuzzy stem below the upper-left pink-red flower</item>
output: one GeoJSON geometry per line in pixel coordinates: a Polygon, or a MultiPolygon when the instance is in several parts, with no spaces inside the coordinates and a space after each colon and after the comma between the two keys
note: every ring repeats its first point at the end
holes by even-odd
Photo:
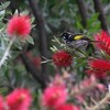
{"type": "Polygon", "coordinates": [[[15,40],[15,37],[12,37],[12,38],[10,40],[9,45],[8,45],[6,52],[4,52],[4,54],[3,54],[3,56],[2,56],[2,58],[1,58],[1,61],[0,61],[0,68],[1,68],[1,66],[3,65],[4,61],[7,59],[7,56],[9,55],[9,51],[10,51],[10,48],[11,48],[11,46],[12,46],[14,40],[15,40]]]}

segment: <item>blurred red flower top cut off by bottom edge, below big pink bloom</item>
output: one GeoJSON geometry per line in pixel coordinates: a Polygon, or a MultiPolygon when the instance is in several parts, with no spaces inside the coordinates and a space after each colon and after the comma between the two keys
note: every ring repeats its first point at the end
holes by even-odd
{"type": "Polygon", "coordinates": [[[79,110],[79,108],[70,103],[65,103],[57,107],[55,110],[79,110]]]}

